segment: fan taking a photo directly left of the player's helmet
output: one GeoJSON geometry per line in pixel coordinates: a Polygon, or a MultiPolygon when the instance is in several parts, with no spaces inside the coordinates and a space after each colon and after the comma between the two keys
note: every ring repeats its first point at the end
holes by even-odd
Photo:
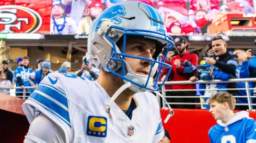
{"type": "Polygon", "coordinates": [[[83,64],[81,69],[77,72],[77,76],[86,78],[90,81],[95,81],[99,76],[99,69],[94,67],[90,62],[86,60],[86,57],[83,58],[83,64]]]}

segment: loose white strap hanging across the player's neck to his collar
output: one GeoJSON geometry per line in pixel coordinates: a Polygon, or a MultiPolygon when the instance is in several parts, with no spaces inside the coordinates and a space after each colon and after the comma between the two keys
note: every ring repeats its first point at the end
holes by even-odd
{"type": "Polygon", "coordinates": [[[114,102],[114,100],[117,99],[117,97],[123,92],[123,90],[125,90],[126,88],[129,88],[130,86],[131,86],[131,83],[127,82],[124,85],[122,85],[117,90],[117,92],[114,93],[114,95],[110,98],[110,100],[105,105],[105,110],[106,110],[107,113],[110,113],[110,106],[114,102]]]}

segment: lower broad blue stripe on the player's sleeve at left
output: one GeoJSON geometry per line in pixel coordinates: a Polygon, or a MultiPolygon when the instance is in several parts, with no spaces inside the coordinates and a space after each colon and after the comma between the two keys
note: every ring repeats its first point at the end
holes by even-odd
{"type": "Polygon", "coordinates": [[[38,101],[39,103],[41,103],[42,105],[44,105],[45,107],[48,107],[49,109],[51,109],[52,111],[54,111],[57,115],[61,116],[62,118],[64,118],[69,124],[70,124],[70,120],[69,120],[69,114],[68,111],[66,111],[65,109],[63,109],[60,105],[58,105],[56,102],[53,102],[52,100],[33,92],[30,95],[30,98],[38,101]]]}

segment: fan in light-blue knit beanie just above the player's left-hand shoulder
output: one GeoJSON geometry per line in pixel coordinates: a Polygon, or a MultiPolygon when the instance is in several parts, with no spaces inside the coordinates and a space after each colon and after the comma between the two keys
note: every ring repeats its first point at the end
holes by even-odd
{"type": "Polygon", "coordinates": [[[30,84],[36,89],[37,84],[39,84],[43,77],[51,73],[51,62],[49,59],[46,59],[45,62],[42,64],[42,68],[40,70],[37,70],[29,75],[28,81],[30,84]]]}

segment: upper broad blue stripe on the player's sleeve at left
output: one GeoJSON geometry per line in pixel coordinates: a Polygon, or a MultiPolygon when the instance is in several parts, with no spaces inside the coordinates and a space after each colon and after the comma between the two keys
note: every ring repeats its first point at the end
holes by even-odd
{"type": "Polygon", "coordinates": [[[62,103],[65,107],[68,108],[67,105],[67,98],[65,95],[60,94],[57,90],[55,90],[54,88],[50,88],[47,87],[48,85],[43,85],[43,84],[39,84],[39,86],[37,87],[37,90],[39,90],[42,93],[45,93],[48,96],[51,96],[53,99],[59,101],[60,103],[62,103]]]}

